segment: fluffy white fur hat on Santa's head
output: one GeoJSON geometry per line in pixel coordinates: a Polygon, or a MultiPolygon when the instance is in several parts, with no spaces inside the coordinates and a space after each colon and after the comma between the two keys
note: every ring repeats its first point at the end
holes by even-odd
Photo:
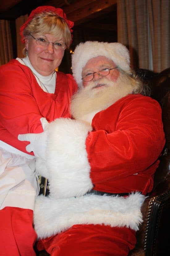
{"type": "Polygon", "coordinates": [[[87,41],[76,46],[72,55],[72,72],[79,87],[82,86],[82,69],[87,61],[97,56],[105,56],[124,71],[130,71],[130,54],[121,43],[87,41]]]}

